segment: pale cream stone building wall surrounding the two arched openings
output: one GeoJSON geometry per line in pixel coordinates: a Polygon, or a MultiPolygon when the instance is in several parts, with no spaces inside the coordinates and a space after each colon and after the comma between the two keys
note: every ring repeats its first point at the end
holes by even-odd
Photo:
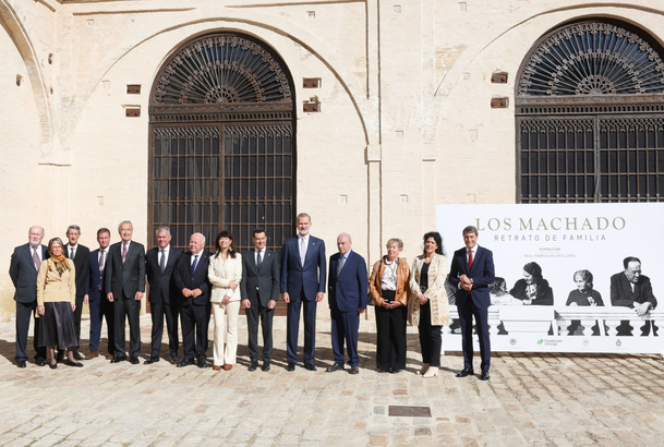
{"type": "MultiPolygon", "coordinates": [[[[148,107],[155,77],[181,44],[233,31],[271,47],[297,102],[297,209],[328,254],[341,232],[371,264],[390,237],[412,258],[435,228],[435,205],[514,203],[515,82],[546,32],[614,17],[662,41],[664,5],[596,1],[0,0],[0,317],[13,312],[7,275],[31,225],[45,240],[134,222],[147,231],[148,107]],[[493,84],[492,73],[508,74],[493,84]],[[304,77],[319,77],[304,89],[304,77]],[[126,85],[141,85],[129,95],[126,85]],[[321,100],[305,113],[302,101],[321,100]],[[492,109],[494,97],[508,107],[492,109]],[[140,117],[125,117],[140,107],[140,117]]],[[[481,241],[480,241],[481,242],[481,241]]],[[[451,251],[461,244],[447,241],[451,251]]]]}

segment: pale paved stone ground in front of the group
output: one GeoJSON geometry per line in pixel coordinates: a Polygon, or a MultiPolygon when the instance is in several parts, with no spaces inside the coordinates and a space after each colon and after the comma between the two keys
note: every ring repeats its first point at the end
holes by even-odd
{"type": "MultiPolygon", "coordinates": [[[[318,371],[299,364],[289,373],[286,318],[276,317],[273,370],[250,373],[245,318],[240,322],[239,364],[230,372],[101,358],[83,369],[28,363],[20,370],[13,323],[0,324],[0,445],[664,444],[657,357],[494,354],[485,383],[456,378],[461,358],[447,354],[439,376],[423,379],[414,374],[416,330],[409,328],[408,371],[378,374],[374,322],[363,319],[360,374],[328,374],[329,322],[319,319],[318,371]],[[432,416],[389,416],[389,406],[430,407],[432,416]]],[[[147,353],[149,316],[141,324],[147,353]]],[[[84,322],[84,334],[88,328],[84,322]]]]}

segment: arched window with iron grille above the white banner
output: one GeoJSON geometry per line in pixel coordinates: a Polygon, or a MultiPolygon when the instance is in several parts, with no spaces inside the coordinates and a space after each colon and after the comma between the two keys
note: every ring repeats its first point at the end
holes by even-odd
{"type": "Polygon", "coordinates": [[[518,202],[664,200],[663,53],[611,20],[533,46],[516,92],[518,202]]]}

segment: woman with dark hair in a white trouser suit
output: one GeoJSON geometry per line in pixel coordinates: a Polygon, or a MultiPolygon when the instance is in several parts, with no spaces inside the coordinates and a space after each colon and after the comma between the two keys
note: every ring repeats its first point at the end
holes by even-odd
{"type": "Polygon", "coordinates": [[[238,253],[229,231],[217,234],[217,252],[210,257],[207,277],[213,285],[210,303],[215,316],[215,371],[231,370],[238,352],[238,314],[240,313],[240,280],[242,255],[238,253]],[[226,336],[226,343],[224,338],[226,336]]]}

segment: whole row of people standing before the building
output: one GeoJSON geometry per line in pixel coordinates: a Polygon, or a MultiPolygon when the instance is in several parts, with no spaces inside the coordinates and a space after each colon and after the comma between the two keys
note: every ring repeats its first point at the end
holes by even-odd
{"type": "Polygon", "coordinates": [[[364,258],[352,250],[350,234],[337,238],[338,252],[328,259],[325,243],[310,234],[311,217],[297,217],[298,235],[283,242],[281,259],[266,247],[263,229],[253,231],[254,247],[240,254],[233,235],[220,231],[215,252],[205,250],[205,237],[193,233],[189,251],[170,245],[167,227],[156,230],[157,246],[145,252],[132,240],[131,221],[118,226],[120,242],[110,244],[110,230],[97,231],[99,247],[89,251],[77,243],[81,229],[70,226],[68,244],[59,238],[41,244],[44,229],[32,227],[29,241],[12,254],[10,276],[16,288],[16,363],[25,367],[31,314],[35,314],[35,360],[55,369],[67,352],[65,364],[82,366],[81,360],[99,355],[101,325],[108,328],[111,363],[138,363],[141,353],[141,300],[149,285],[152,315],[150,354],[144,363],[160,361],[164,322],[171,363],[179,367],[197,364],[208,367],[208,327],[214,315],[214,370],[231,370],[238,348],[238,316],[243,309],[248,318],[250,371],[258,367],[258,325],[263,333],[263,371],[270,370],[273,316],[281,293],[287,306],[287,371],[298,364],[300,316],[303,315],[303,364],[316,371],[315,333],[317,303],[328,293],[331,318],[333,373],[349,366],[359,373],[358,333],[360,315],[369,300],[375,304],[379,372],[398,373],[406,367],[407,321],[419,328],[423,377],[435,377],[440,365],[442,326],[449,325],[446,280],[455,287],[455,301],[461,322],[463,369],[457,374],[473,374],[472,318],[480,337],[481,379],[488,379],[491,347],[487,307],[488,285],[494,282],[491,251],[478,245],[478,229],[463,229],[466,247],[455,252],[448,273],[443,240],[438,232],[423,238],[423,253],[412,263],[399,257],[403,243],[387,242],[387,254],[373,265],[367,278],[364,258]],[[329,266],[329,269],[327,269],[329,266]],[[89,351],[83,357],[81,307],[89,305],[89,351]],[[130,343],[126,350],[125,324],[130,343]],[[182,329],[183,357],[179,357],[179,328],[182,329]],[[348,358],[345,355],[347,351],[348,358]]]}

